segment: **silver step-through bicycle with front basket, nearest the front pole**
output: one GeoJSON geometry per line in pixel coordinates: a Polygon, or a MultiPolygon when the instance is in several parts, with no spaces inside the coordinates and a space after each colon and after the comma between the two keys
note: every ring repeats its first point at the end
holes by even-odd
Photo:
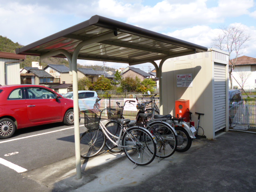
{"type": "MultiPolygon", "coordinates": [[[[96,104],[100,99],[96,99],[96,104]]],[[[92,110],[84,111],[84,125],[87,131],[80,138],[80,152],[82,158],[90,158],[101,152],[106,144],[106,138],[115,147],[123,149],[128,159],[136,165],[150,164],[156,156],[156,143],[152,134],[141,126],[128,126],[129,119],[118,119],[120,132],[118,136],[112,135],[104,124],[100,121],[104,110],[100,110],[100,115],[92,110]],[[114,137],[112,140],[110,136],[114,137]]]]}

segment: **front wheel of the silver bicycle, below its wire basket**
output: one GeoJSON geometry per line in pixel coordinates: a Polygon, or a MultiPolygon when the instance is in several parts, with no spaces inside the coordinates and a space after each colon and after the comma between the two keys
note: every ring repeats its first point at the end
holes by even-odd
{"type": "Polygon", "coordinates": [[[105,146],[106,136],[102,130],[87,130],[80,138],[80,156],[91,158],[96,156],[105,146]]]}

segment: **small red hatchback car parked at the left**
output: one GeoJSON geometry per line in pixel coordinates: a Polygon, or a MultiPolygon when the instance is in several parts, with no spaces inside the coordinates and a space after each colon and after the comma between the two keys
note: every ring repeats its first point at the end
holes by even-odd
{"type": "Polygon", "coordinates": [[[74,124],[73,100],[40,85],[0,86],[0,139],[16,129],[55,122],[74,124]]]}

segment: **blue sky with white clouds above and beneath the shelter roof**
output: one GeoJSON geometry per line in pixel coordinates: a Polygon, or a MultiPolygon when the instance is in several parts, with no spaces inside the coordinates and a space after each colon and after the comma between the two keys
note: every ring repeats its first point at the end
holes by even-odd
{"type": "MultiPolygon", "coordinates": [[[[25,46],[94,15],[208,48],[222,26],[238,25],[251,36],[240,56],[256,58],[256,0],[0,0],[0,35],[25,46]]],[[[103,66],[101,61],[78,63],[103,66]]],[[[154,68],[152,64],[134,67],[146,72],[154,68]]]]}

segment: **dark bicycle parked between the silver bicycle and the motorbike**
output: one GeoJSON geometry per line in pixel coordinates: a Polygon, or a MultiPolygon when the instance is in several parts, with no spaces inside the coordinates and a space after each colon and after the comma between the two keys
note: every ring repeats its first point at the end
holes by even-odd
{"type": "MultiPolygon", "coordinates": [[[[134,102],[133,100],[128,100],[126,102],[134,102]]],[[[124,102],[124,106],[126,104],[124,102]]],[[[111,119],[110,122],[106,124],[106,128],[111,132],[113,135],[117,135],[120,130],[120,125],[118,124],[116,118],[124,118],[123,116],[123,109],[124,106],[120,106],[119,102],[116,102],[118,105],[118,109],[116,110],[116,115],[110,115],[108,118],[111,119]]],[[[146,106],[147,104],[142,104],[146,106]]],[[[174,128],[170,126],[170,124],[166,123],[164,120],[156,120],[156,119],[149,119],[152,114],[145,114],[143,111],[145,110],[144,107],[141,107],[137,104],[137,108],[140,109],[138,111],[136,120],[131,120],[129,126],[143,126],[147,130],[150,131],[151,134],[154,135],[156,138],[156,147],[157,152],[156,156],[158,158],[167,158],[174,154],[178,140],[176,136],[176,132],[174,128]]],[[[106,142],[106,145],[112,152],[120,152],[117,148],[114,148],[110,142],[106,142]]]]}

